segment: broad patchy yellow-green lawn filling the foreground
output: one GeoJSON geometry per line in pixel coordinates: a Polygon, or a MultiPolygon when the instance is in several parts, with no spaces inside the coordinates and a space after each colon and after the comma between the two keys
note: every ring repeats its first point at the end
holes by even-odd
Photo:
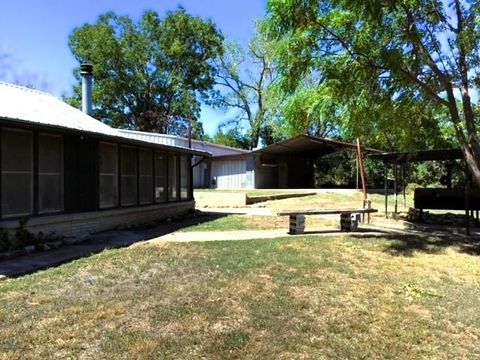
{"type": "Polygon", "coordinates": [[[478,358],[479,254],[398,236],[109,250],[0,283],[0,358],[478,358]]]}

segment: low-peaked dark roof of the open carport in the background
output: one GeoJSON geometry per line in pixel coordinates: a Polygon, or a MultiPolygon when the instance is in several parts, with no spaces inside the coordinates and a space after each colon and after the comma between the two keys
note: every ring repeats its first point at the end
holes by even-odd
{"type": "MultiPolygon", "coordinates": [[[[294,138],[279,141],[263,149],[254,151],[254,154],[268,155],[302,155],[309,157],[325,156],[343,149],[355,150],[357,145],[343,141],[321,138],[310,135],[299,135],[294,138]]],[[[363,148],[366,152],[381,153],[379,150],[363,148]]]]}

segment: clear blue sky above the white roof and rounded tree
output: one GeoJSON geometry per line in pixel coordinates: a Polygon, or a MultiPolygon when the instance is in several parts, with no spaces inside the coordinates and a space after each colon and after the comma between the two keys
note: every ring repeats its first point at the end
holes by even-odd
{"type": "MultiPolygon", "coordinates": [[[[56,96],[69,94],[77,65],[67,45],[75,27],[93,23],[114,11],[138,19],[147,9],[161,16],[183,6],[192,15],[211,19],[227,39],[246,44],[256,19],[265,14],[265,0],[2,0],[0,11],[0,80],[29,83],[56,96]],[[0,58],[1,59],[1,58],[0,58]]],[[[226,115],[202,107],[201,120],[213,135],[226,115]]]]}

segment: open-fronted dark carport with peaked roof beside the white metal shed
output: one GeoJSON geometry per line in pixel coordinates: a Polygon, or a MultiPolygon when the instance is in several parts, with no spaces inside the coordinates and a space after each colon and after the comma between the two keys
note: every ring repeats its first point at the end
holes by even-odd
{"type": "MultiPolygon", "coordinates": [[[[357,145],[317,136],[299,135],[256,150],[253,152],[255,188],[313,188],[315,159],[345,149],[357,151],[357,145]]],[[[362,151],[379,152],[366,148],[362,148],[362,151]]]]}

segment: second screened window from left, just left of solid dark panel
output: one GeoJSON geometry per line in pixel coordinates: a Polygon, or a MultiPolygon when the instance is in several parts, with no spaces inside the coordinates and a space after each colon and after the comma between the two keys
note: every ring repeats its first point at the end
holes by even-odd
{"type": "Polygon", "coordinates": [[[38,212],[63,210],[63,137],[38,135],[38,212]]]}

